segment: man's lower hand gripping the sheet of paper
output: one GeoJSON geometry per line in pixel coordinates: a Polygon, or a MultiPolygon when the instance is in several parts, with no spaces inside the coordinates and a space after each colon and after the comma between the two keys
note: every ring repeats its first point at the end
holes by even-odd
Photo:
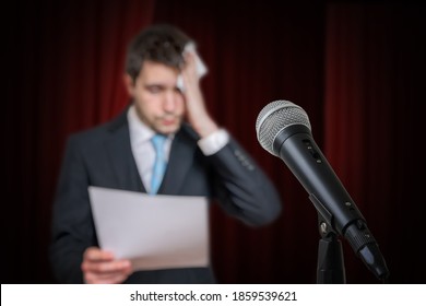
{"type": "Polygon", "coordinates": [[[133,272],[130,260],[117,260],[111,252],[97,247],[84,251],[81,269],[88,284],[122,283],[133,272]]]}

